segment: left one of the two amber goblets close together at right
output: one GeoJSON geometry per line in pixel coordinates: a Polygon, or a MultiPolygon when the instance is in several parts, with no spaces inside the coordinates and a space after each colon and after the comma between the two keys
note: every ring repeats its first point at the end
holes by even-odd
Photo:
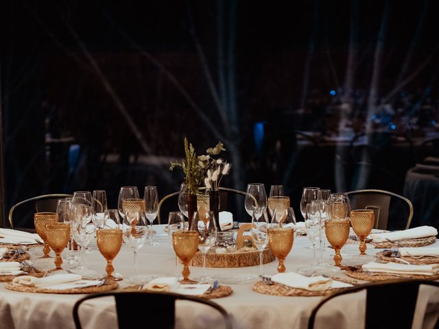
{"type": "Polygon", "coordinates": [[[348,241],[350,223],[348,219],[327,219],[324,221],[324,232],[329,243],[335,250],[334,262],[336,266],[342,263],[340,250],[348,241]]]}

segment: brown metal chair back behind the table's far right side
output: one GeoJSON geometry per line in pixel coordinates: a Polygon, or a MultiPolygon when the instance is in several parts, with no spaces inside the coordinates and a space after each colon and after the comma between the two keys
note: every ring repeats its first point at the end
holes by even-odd
{"type": "Polygon", "coordinates": [[[372,209],[375,212],[375,225],[374,228],[380,230],[387,230],[389,224],[394,225],[394,223],[389,222],[389,210],[390,201],[392,197],[402,200],[404,204],[407,205],[408,216],[405,220],[405,229],[410,227],[413,217],[413,205],[409,199],[403,197],[402,195],[383,191],[383,190],[357,190],[350,191],[346,193],[351,200],[351,207],[353,209],[372,209]]]}

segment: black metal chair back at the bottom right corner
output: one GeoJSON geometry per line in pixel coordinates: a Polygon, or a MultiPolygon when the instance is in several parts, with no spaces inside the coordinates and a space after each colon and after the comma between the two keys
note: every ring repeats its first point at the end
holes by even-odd
{"type": "MultiPolygon", "coordinates": [[[[313,329],[318,310],[333,298],[346,293],[366,290],[366,329],[412,328],[418,290],[421,284],[439,287],[439,282],[427,280],[395,280],[371,284],[361,284],[333,293],[313,308],[309,317],[308,329],[313,329]]],[[[436,308],[439,314],[439,309],[436,308]]],[[[438,328],[439,320],[434,328],[438,328]]]]}

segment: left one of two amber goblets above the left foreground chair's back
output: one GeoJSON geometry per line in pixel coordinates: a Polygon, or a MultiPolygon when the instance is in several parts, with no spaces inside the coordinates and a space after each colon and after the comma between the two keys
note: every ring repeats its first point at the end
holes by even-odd
{"type": "Polygon", "coordinates": [[[119,228],[102,228],[96,231],[97,248],[102,256],[107,260],[107,280],[114,281],[113,273],[115,267],[112,261],[115,259],[122,246],[122,230],[119,228]]]}

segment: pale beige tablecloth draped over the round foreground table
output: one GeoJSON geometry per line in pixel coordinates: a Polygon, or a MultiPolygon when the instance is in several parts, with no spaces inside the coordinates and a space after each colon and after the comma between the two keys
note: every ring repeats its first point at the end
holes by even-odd
{"type": "MultiPolygon", "coordinates": [[[[144,245],[137,260],[139,273],[154,276],[174,276],[175,254],[171,243],[165,237],[164,226],[154,226],[159,245],[144,245]]],[[[312,250],[306,236],[297,236],[292,252],[286,260],[287,271],[312,263],[312,250]]],[[[435,245],[439,245],[436,241],[435,245]]],[[[368,245],[368,254],[379,249],[368,245]]],[[[343,252],[343,251],[342,251],[343,252]]],[[[324,252],[329,261],[333,251],[324,252]]],[[[104,273],[106,262],[95,249],[87,256],[88,267],[104,273]]],[[[123,246],[115,259],[115,270],[125,276],[134,270],[130,249],[123,246]]],[[[264,265],[265,273],[276,272],[277,260],[264,265]]],[[[202,269],[191,267],[191,277],[201,274],[202,269]]],[[[208,275],[258,274],[259,267],[241,267],[236,269],[207,269],[208,275]]],[[[338,275],[338,274],[337,274],[338,275]]],[[[344,276],[341,274],[340,276],[344,276]]],[[[129,285],[126,280],[119,281],[120,286],[129,285]]],[[[223,306],[233,318],[233,328],[307,328],[311,310],[321,297],[282,297],[263,295],[252,291],[252,282],[230,284],[233,294],[213,300],[223,306]]],[[[73,305],[83,295],[60,295],[43,293],[21,293],[8,291],[0,283],[0,328],[74,328],[73,305]]],[[[412,328],[434,328],[439,308],[437,289],[423,286],[418,296],[414,326],[412,328]]],[[[364,328],[365,293],[353,293],[329,302],[319,313],[314,328],[364,328]]],[[[391,302],[389,304],[391,311],[391,302]]],[[[142,326],[159,324],[160,319],[145,317],[147,305],[133,305],[134,318],[142,326]]],[[[396,313],[397,314],[397,313],[396,313]]],[[[397,315],[396,315],[397,316],[397,315]]],[[[117,328],[115,304],[112,297],[88,301],[80,308],[83,328],[117,328]]],[[[159,328],[159,326],[157,326],[159,328]]],[[[222,319],[215,310],[192,302],[178,301],[176,306],[176,328],[224,328],[222,319]]]]}

